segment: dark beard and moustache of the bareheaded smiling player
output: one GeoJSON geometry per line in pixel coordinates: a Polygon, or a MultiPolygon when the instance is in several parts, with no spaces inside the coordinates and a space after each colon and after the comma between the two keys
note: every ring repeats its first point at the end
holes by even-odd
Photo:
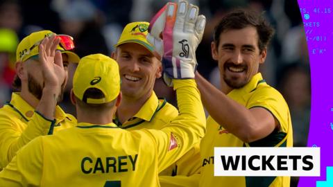
{"type": "MultiPolygon", "coordinates": [[[[233,63],[225,63],[224,64],[224,71],[228,69],[228,66],[243,66],[245,71],[247,71],[248,67],[246,65],[235,65],[233,63]]],[[[246,84],[248,84],[249,80],[248,78],[234,78],[232,76],[227,76],[225,73],[223,74],[223,80],[228,85],[228,87],[232,89],[239,89],[241,87],[244,87],[246,84]]]]}

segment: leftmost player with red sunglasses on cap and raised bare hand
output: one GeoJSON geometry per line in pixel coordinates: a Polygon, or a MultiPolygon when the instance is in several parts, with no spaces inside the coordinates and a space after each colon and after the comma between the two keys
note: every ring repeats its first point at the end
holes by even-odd
{"type": "Polygon", "coordinates": [[[50,30],[32,33],[17,46],[17,76],[13,84],[20,92],[12,93],[10,102],[0,109],[0,170],[12,160],[17,150],[37,136],[52,134],[76,123],[74,116],[66,114],[57,105],[67,82],[69,62],[80,60],[78,55],[69,51],[73,48],[70,36],[56,35],[50,30]],[[57,62],[52,71],[42,71],[41,49],[38,48],[42,41],[43,53],[57,62]],[[55,53],[55,50],[61,53],[55,53]],[[50,103],[50,100],[54,102],[50,103]]]}

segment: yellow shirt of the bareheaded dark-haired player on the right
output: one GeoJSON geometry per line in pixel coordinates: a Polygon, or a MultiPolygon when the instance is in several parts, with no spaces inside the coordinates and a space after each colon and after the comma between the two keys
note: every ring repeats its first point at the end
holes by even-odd
{"type": "Polygon", "coordinates": [[[203,159],[200,186],[290,186],[290,177],[214,177],[214,147],[292,147],[293,145],[288,105],[277,90],[266,84],[261,73],[257,73],[245,87],[230,91],[228,97],[248,109],[253,107],[267,109],[279,121],[280,131],[273,132],[259,141],[244,143],[209,116],[207,133],[200,143],[203,159]]]}

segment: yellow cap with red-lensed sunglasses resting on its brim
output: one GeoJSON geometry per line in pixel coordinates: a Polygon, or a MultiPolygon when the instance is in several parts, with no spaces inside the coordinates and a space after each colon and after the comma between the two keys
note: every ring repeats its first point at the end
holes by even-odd
{"type": "MultiPolygon", "coordinates": [[[[38,55],[38,45],[45,37],[51,37],[56,35],[51,30],[42,30],[35,33],[31,33],[27,37],[24,37],[16,50],[16,62],[24,62],[29,58],[38,55]]],[[[69,51],[74,49],[73,38],[69,35],[56,35],[60,38],[60,44],[57,46],[57,49],[61,53],[68,55],[68,61],[78,63],[80,57],[76,53],[69,51]]]]}

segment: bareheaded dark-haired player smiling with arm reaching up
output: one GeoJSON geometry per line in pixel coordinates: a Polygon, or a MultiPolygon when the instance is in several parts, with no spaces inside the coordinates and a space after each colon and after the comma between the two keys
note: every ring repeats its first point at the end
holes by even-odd
{"type": "Polygon", "coordinates": [[[214,147],[291,147],[289,108],[259,73],[273,28],[262,15],[234,10],[214,30],[212,57],[219,64],[221,90],[199,73],[196,82],[209,112],[200,143],[200,186],[290,186],[290,177],[214,177],[214,147]]]}

